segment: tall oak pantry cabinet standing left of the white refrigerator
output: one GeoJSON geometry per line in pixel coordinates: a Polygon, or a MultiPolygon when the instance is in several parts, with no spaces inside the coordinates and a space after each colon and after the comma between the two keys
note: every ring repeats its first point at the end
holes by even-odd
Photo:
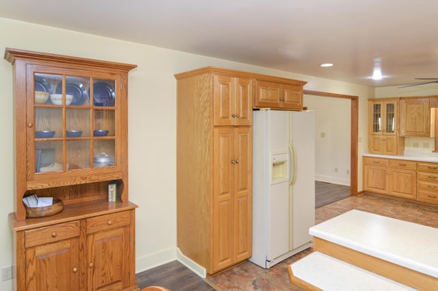
{"type": "Polygon", "coordinates": [[[248,75],[201,68],[177,79],[177,246],[208,275],[252,255],[248,75]]]}

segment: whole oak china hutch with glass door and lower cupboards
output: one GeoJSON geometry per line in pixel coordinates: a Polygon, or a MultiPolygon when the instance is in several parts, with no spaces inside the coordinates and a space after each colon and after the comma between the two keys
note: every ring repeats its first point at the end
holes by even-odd
{"type": "Polygon", "coordinates": [[[19,49],[6,49],[5,60],[14,69],[16,290],[138,290],[127,164],[127,80],[136,66],[19,49]],[[23,198],[31,194],[64,209],[29,217],[23,198]]]}

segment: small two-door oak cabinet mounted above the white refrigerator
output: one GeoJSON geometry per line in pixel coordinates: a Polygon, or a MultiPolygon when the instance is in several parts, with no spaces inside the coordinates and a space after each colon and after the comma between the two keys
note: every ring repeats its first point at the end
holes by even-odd
{"type": "Polygon", "coordinates": [[[302,87],[305,81],[274,78],[255,80],[254,107],[302,110],[302,87]]]}

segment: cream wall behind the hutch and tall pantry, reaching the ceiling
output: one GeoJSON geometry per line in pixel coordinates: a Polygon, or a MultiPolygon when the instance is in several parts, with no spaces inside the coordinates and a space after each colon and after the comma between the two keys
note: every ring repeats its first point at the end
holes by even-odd
{"type": "MultiPolygon", "coordinates": [[[[176,82],[173,75],[202,66],[308,81],[308,90],[360,97],[359,138],[366,145],[366,102],[374,90],[355,84],[207,58],[180,51],[102,38],[0,18],[0,51],[5,47],[137,64],[129,75],[129,197],[136,212],[136,271],[176,257],[176,82]]],[[[0,268],[12,264],[8,213],[14,211],[12,66],[0,61],[0,268]]],[[[359,143],[359,155],[363,147],[359,143]]],[[[359,190],[362,188],[359,156],[359,190]]],[[[0,281],[0,290],[12,289],[0,281]]]]}

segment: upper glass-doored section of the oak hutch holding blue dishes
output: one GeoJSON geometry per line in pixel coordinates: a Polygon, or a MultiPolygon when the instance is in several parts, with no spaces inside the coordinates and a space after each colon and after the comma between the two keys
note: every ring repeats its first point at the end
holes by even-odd
{"type": "Polygon", "coordinates": [[[64,204],[127,194],[127,81],[135,65],[6,49],[13,64],[16,219],[23,197],[64,204]]]}

